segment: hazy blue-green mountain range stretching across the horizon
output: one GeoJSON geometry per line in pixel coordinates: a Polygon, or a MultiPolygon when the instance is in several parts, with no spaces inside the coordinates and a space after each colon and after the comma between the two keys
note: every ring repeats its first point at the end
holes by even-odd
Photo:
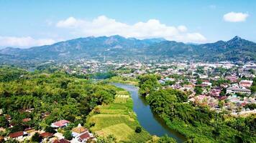
{"type": "Polygon", "coordinates": [[[196,59],[204,61],[255,61],[256,44],[235,36],[229,41],[185,44],[165,39],[89,36],[29,49],[0,49],[0,60],[49,59],[196,59]]]}

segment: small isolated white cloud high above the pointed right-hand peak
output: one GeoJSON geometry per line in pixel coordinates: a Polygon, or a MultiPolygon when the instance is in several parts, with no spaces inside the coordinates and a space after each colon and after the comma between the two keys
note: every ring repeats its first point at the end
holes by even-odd
{"type": "Polygon", "coordinates": [[[229,12],[227,14],[224,14],[223,19],[224,21],[229,22],[242,22],[246,21],[249,14],[244,14],[242,12],[229,12]]]}

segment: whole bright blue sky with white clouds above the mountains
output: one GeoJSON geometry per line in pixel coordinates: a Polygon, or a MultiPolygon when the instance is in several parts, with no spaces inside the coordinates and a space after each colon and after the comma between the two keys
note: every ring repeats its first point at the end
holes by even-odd
{"type": "Polygon", "coordinates": [[[0,48],[86,36],[256,41],[253,0],[0,0],[0,48]]]}

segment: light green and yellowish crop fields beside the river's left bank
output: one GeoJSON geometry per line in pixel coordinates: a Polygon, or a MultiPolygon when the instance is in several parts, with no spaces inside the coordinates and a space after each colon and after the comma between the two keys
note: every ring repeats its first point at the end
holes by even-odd
{"type": "Polygon", "coordinates": [[[152,137],[142,129],[136,133],[136,127],[140,126],[137,116],[132,111],[132,98],[127,91],[119,89],[114,103],[98,107],[99,112],[91,112],[87,118],[87,124],[94,124],[92,132],[107,136],[113,134],[117,142],[147,142],[152,137]]]}

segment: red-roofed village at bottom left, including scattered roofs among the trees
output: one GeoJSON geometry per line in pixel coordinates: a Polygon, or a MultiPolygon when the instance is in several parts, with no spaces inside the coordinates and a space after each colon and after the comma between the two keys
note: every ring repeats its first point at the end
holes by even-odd
{"type": "MultiPolygon", "coordinates": [[[[29,111],[29,110],[28,110],[29,111]]],[[[4,115],[8,117],[8,115],[4,115]]],[[[10,122],[9,126],[10,128],[13,127],[12,125],[12,118],[8,117],[8,121],[10,122]]],[[[29,122],[31,119],[22,119],[22,122],[29,122]]],[[[47,129],[47,131],[44,130],[36,130],[32,127],[28,127],[27,129],[24,129],[24,131],[14,132],[10,133],[7,137],[0,137],[0,142],[4,140],[17,140],[18,142],[26,142],[29,141],[33,137],[40,138],[40,142],[52,142],[52,143],[79,143],[79,142],[95,142],[96,138],[93,134],[91,134],[88,129],[81,126],[81,124],[78,124],[77,127],[73,127],[71,129],[71,136],[68,137],[70,140],[65,139],[67,137],[64,137],[63,135],[64,129],[69,126],[70,122],[67,120],[60,120],[57,122],[53,122],[51,126],[47,129]]],[[[4,132],[6,129],[0,128],[1,132],[4,132]]]]}

